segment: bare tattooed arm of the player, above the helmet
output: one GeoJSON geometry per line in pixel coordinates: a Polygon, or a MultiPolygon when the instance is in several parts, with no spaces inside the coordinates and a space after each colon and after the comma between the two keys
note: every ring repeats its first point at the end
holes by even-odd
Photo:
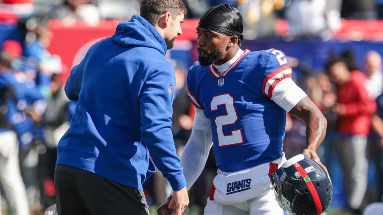
{"type": "Polygon", "coordinates": [[[304,97],[290,113],[306,123],[307,148],[317,150],[326,135],[327,120],[309,97],[304,97]]]}

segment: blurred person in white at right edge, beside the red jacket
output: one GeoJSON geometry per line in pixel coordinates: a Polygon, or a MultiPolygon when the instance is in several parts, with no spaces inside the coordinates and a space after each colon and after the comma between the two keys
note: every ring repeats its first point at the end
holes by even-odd
{"type": "Polygon", "coordinates": [[[372,99],[383,92],[382,57],[376,51],[366,54],[366,89],[372,99]]]}

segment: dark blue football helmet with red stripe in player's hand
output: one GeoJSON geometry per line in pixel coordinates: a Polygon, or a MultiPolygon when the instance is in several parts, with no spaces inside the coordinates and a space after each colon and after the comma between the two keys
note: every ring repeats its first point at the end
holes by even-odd
{"type": "Polygon", "coordinates": [[[331,179],[318,163],[298,154],[270,176],[279,206],[292,215],[320,215],[332,199],[331,179]]]}

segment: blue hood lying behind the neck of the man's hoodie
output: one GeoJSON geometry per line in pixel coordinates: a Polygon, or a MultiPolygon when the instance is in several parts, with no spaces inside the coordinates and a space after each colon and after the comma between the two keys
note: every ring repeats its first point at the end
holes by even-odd
{"type": "Polygon", "coordinates": [[[130,21],[120,22],[112,38],[124,47],[143,46],[166,54],[167,46],[161,34],[139,15],[133,15],[130,21]]]}

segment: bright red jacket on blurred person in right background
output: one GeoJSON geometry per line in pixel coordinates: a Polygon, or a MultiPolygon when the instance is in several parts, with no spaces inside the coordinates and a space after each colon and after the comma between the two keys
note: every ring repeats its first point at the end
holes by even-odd
{"type": "Polygon", "coordinates": [[[346,107],[345,115],[338,120],[338,128],[343,134],[367,136],[376,103],[369,97],[364,86],[366,76],[357,70],[351,71],[350,75],[350,81],[337,91],[338,103],[346,107]]]}

